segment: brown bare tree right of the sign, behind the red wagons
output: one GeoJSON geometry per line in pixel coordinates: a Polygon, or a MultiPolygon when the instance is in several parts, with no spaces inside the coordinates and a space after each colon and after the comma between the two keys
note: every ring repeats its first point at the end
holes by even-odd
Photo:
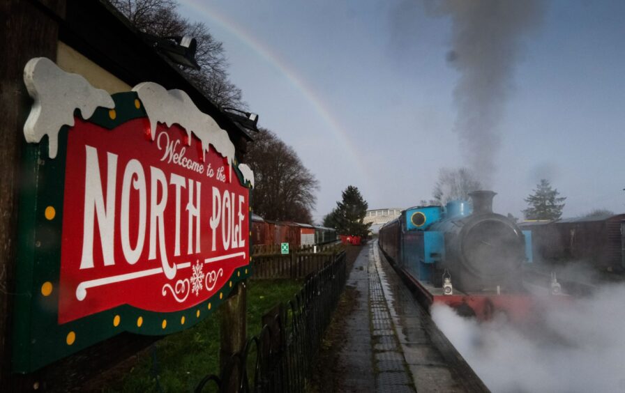
{"type": "Polygon", "coordinates": [[[261,128],[248,146],[246,162],[254,171],[254,213],[265,219],[312,223],[310,211],[319,182],[291,146],[261,128]]]}

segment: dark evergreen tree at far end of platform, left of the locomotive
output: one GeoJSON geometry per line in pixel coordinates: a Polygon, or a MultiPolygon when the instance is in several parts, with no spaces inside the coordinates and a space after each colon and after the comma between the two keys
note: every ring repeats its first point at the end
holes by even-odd
{"type": "Polygon", "coordinates": [[[349,185],[342,192],[342,201],[336,202],[336,208],[324,217],[324,225],[335,227],[340,235],[367,236],[371,224],[363,224],[363,219],[368,207],[358,188],[349,185]]]}

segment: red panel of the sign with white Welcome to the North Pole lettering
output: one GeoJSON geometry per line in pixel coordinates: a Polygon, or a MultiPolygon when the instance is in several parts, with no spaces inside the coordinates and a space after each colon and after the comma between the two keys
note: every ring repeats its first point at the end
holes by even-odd
{"type": "Polygon", "coordinates": [[[58,322],[120,305],[171,312],[248,265],[249,189],[178,125],[68,132],[58,322]]]}

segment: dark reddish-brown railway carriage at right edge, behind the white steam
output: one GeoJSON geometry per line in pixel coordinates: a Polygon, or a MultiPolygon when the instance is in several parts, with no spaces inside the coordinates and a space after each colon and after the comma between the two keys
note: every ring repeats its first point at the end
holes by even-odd
{"type": "Polygon", "coordinates": [[[534,257],[546,263],[584,261],[602,270],[625,268],[625,214],[522,222],[532,231],[534,257]]]}

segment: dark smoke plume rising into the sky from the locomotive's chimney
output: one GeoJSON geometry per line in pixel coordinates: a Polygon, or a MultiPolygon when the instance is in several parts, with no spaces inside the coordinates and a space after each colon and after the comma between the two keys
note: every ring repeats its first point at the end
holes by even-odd
{"type": "Polygon", "coordinates": [[[541,19],[541,0],[425,1],[428,9],[453,22],[447,61],[460,72],[454,90],[455,131],[467,164],[488,186],[520,38],[541,19]]]}

